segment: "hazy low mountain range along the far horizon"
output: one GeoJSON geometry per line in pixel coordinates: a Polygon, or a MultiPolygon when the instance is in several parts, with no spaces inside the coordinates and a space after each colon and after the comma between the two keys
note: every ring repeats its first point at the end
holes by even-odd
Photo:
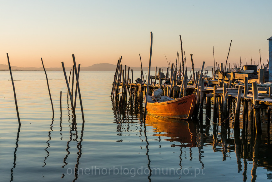
{"type": "MultiPolygon", "coordinates": [[[[157,67],[157,71],[159,71],[159,68],[161,68],[161,71],[166,71],[167,67],[157,67]]],[[[43,71],[43,67],[18,67],[18,66],[11,66],[12,71],[43,71]]],[[[70,67],[66,68],[66,71],[71,69],[70,67]]],[[[123,65],[124,69],[124,65],[123,65]]],[[[128,69],[128,66],[127,66],[128,69]]],[[[212,70],[212,66],[207,66],[205,69],[208,69],[209,71],[212,70]]],[[[204,69],[204,70],[205,70],[204,69]]],[[[63,71],[61,67],[54,67],[54,68],[45,68],[46,71],[63,71]]],[[[109,64],[109,63],[98,63],[94,64],[92,66],[87,67],[80,67],[80,71],[115,71],[116,65],[109,64]]],[[[133,71],[141,71],[141,67],[130,67],[130,70],[133,71]]],[[[151,71],[155,71],[156,67],[151,67],[151,71]]],[[[192,68],[188,68],[188,71],[192,70],[192,68]]],[[[195,70],[199,70],[199,68],[195,68],[195,70]]],[[[0,71],[9,71],[8,65],[0,64],[0,71]]],[[[148,71],[148,67],[143,67],[143,71],[148,71]]]]}

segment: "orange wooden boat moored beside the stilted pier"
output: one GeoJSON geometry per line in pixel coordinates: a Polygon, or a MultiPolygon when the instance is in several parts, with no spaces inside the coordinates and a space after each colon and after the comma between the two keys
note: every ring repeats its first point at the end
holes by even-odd
{"type": "Polygon", "coordinates": [[[151,96],[148,96],[146,110],[150,115],[165,118],[191,118],[196,103],[196,96],[194,94],[179,99],[172,99],[167,96],[162,96],[161,98],[163,98],[161,100],[168,101],[155,102],[151,99],[151,96]]]}

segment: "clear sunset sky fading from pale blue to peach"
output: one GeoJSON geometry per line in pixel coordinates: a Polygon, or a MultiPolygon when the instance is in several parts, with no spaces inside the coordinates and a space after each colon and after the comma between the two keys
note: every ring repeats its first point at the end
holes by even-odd
{"type": "Polygon", "coordinates": [[[152,66],[176,60],[182,37],[187,65],[213,66],[225,62],[255,64],[259,49],[264,63],[272,36],[271,0],[223,1],[0,1],[0,64],[61,67],[122,63],[148,66],[153,32],[152,66]]]}

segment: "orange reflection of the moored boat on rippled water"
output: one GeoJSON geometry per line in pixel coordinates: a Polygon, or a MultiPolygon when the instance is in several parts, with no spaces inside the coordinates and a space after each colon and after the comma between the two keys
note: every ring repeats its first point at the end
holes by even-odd
{"type": "MultiPolygon", "coordinates": [[[[146,115],[145,123],[154,128],[154,136],[166,136],[171,142],[180,142],[183,147],[196,146],[196,127],[192,121],[169,119],[146,115]]],[[[172,146],[172,145],[171,145],[172,146]]]]}

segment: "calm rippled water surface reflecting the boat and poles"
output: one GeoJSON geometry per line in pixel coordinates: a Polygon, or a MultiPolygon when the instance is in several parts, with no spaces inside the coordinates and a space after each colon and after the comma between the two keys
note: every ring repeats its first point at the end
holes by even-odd
{"type": "Polygon", "coordinates": [[[254,137],[243,140],[241,132],[234,141],[233,130],[197,121],[147,116],[144,125],[142,112],[119,111],[112,102],[114,72],[80,72],[83,125],[79,99],[76,120],[72,117],[63,72],[47,75],[53,118],[44,72],[13,72],[22,123],[18,131],[10,74],[0,72],[0,181],[272,179],[266,134],[254,145],[254,137]]]}

